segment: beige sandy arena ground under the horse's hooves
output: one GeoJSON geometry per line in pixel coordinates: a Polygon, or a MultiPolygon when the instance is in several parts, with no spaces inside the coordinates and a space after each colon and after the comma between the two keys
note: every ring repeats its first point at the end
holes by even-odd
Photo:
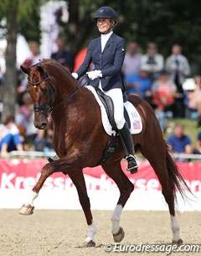
{"type": "MultiPolygon", "coordinates": [[[[32,216],[18,214],[18,209],[0,209],[1,256],[102,256],[120,255],[105,251],[106,243],[114,245],[111,235],[111,211],[92,211],[97,233],[95,248],[83,248],[86,236],[84,213],[67,210],[37,210],[32,216]]],[[[201,212],[177,215],[184,244],[201,243],[201,212]]],[[[164,244],[172,240],[168,212],[125,211],[121,227],[126,232],[121,244],[164,244]]],[[[199,246],[201,249],[201,246],[199,246]]],[[[121,252],[126,255],[167,255],[167,253],[121,252]]],[[[197,252],[172,255],[200,255],[197,252]]]]}

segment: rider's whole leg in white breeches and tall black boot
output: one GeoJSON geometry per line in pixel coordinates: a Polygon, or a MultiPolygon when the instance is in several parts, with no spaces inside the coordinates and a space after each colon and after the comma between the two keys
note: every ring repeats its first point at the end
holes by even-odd
{"type": "Polygon", "coordinates": [[[128,162],[127,170],[131,173],[137,172],[137,161],[134,156],[134,145],[130,130],[124,118],[123,95],[120,88],[104,91],[104,93],[111,97],[114,104],[114,119],[119,130],[121,142],[126,153],[126,160],[128,162]]]}

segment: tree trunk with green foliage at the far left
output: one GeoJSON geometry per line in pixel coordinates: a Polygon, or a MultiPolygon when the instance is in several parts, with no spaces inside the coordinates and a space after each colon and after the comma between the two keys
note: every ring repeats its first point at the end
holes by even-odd
{"type": "Polygon", "coordinates": [[[14,115],[16,108],[16,44],[20,21],[31,15],[34,7],[39,7],[39,1],[34,0],[1,0],[0,18],[7,20],[7,50],[6,50],[6,74],[3,86],[3,116],[4,122],[8,116],[14,115]]]}

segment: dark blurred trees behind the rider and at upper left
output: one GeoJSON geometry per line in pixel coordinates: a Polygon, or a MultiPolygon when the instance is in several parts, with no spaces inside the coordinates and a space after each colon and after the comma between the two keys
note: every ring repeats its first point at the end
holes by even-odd
{"type": "MultiPolygon", "coordinates": [[[[7,18],[8,49],[7,74],[3,94],[3,119],[13,114],[16,94],[16,38],[20,31],[28,41],[39,42],[39,8],[45,0],[1,0],[0,18],[7,18]]],[[[116,34],[126,41],[137,40],[142,53],[147,42],[154,41],[159,52],[167,57],[171,46],[181,44],[183,54],[198,72],[201,44],[200,0],[66,0],[70,18],[68,24],[60,24],[62,33],[74,55],[99,36],[95,26],[95,11],[101,6],[111,6],[118,14],[116,34]]]]}

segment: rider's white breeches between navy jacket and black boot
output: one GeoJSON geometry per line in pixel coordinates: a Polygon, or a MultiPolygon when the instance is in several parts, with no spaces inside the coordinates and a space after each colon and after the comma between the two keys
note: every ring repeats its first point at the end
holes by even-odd
{"type": "Polygon", "coordinates": [[[111,97],[114,104],[114,119],[119,130],[126,123],[124,118],[123,94],[120,88],[114,88],[109,91],[103,91],[107,96],[111,97]]]}

